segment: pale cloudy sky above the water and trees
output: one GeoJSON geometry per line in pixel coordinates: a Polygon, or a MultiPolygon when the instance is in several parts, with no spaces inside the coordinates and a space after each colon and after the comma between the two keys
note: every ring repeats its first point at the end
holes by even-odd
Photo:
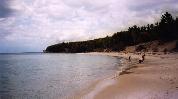
{"type": "Polygon", "coordinates": [[[105,37],[178,15],[178,0],[0,0],[0,53],[105,37]]]}

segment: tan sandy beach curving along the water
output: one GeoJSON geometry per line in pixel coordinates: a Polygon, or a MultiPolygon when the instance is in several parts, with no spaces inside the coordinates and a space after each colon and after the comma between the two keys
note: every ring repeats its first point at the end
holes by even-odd
{"type": "MultiPolygon", "coordinates": [[[[89,53],[128,58],[132,61],[141,55],[124,53],[89,53]]],[[[121,73],[113,75],[91,86],[73,99],[177,99],[178,98],[178,54],[164,55],[146,53],[145,61],[132,64],[121,73]]]]}

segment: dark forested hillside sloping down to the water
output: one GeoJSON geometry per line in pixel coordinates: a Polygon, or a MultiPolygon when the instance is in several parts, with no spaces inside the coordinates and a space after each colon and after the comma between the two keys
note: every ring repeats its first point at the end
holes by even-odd
{"type": "Polygon", "coordinates": [[[80,53],[93,51],[122,51],[127,46],[160,40],[163,42],[178,40],[178,17],[166,12],[159,22],[145,26],[132,26],[127,31],[114,33],[112,36],[88,41],[66,42],[48,46],[49,53],[80,53]]]}

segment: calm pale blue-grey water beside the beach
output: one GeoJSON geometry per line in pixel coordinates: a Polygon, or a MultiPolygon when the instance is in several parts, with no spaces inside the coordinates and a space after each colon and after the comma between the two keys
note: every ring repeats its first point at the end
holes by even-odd
{"type": "Polygon", "coordinates": [[[79,54],[0,55],[0,99],[63,99],[116,72],[120,60],[79,54]]]}

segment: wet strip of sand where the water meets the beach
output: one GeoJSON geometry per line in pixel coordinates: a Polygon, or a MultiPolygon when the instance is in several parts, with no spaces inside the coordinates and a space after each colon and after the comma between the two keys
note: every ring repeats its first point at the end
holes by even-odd
{"type": "MultiPolygon", "coordinates": [[[[85,53],[85,54],[87,54],[87,53],[85,53]]],[[[88,54],[90,54],[90,53],[88,53],[88,54]]],[[[97,55],[97,54],[91,54],[91,55],[97,55]]],[[[119,68],[118,68],[117,72],[113,73],[111,76],[106,76],[100,80],[95,80],[95,81],[91,82],[89,86],[83,88],[78,94],[75,94],[70,98],[67,97],[66,99],[93,99],[94,96],[97,93],[99,93],[100,91],[102,91],[104,88],[116,83],[114,78],[119,77],[126,70],[128,70],[128,69],[132,68],[133,66],[135,66],[136,64],[138,64],[137,58],[133,58],[132,61],[129,61],[126,57],[122,57],[119,55],[113,56],[113,55],[101,54],[101,53],[98,53],[98,55],[104,55],[104,56],[106,55],[106,56],[110,56],[110,57],[120,58],[121,63],[118,64],[120,66],[118,66],[119,68]]]]}

